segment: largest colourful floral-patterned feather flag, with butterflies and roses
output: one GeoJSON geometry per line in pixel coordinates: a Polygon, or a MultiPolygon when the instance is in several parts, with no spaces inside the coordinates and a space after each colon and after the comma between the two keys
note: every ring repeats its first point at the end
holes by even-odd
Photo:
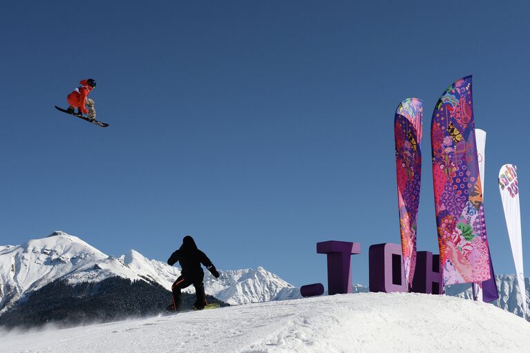
{"type": "Polygon", "coordinates": [[[488,280],[471,76],[438,99],[430,130],[440,263],[444,285],[488,280]]]}

